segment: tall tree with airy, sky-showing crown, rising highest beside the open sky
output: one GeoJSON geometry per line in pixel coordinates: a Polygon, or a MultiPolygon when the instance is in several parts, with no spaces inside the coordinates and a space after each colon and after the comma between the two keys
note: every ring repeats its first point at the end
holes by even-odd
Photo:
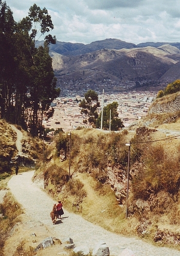
{"type": "Polygon", "coordinates": [[[57,97],[60,93],[59,89],[55,89],[56,79],[54,77],[52,59],[49,56],[48,49],[50,43],[56,43],[55,36],[46,36],[44,47],[40,46],[36,48],[36,37],[39,35],[39,32],[40,37],[52,30],[54,25],[46,8],[40,9],[36,4],[29,9],[29,15],[22,19],[20,24],[23,30],[29,33],[33,41],[33,47],[29,49],[33,62],[29,70],[31,78],[29,92],[31,94],[30,100],[33,109],[31,131],[33,136],[36,136],[40,107],[42,110],[41,114],[43,114],[45,107],[49,107],[54,97],[57,97]]]}

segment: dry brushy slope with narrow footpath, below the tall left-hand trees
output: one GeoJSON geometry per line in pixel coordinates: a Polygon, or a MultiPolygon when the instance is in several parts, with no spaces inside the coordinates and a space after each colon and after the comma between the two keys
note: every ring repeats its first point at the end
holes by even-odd
{"type": "MultiPolygon", "coordinates": [[[[23,133],[22,150],[26,155],[24,163],[17,158],[18,150],[16,148],[17,133],[11,128],[5,120],[0,119],[0,180],[5,180],[15,173],[16,165],[18,164],[18,172],[29,170],[29,167],[34,166],[38,169],[43,162],[43,140],[33,137],[30,133],[24,131],[20,126],[17,128],[23,133]]],[[[45,143],[46,149],[48,144],[45,143]]],[[[46,151],[48,152],[48,150],[46,151]]],[[[6,182],[0,183],[0,189],[5,189],[6,182]]]]}

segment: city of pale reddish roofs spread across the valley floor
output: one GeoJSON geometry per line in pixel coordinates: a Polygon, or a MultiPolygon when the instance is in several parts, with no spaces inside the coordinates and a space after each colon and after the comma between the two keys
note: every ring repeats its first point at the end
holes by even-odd
{"type": "MultiPolygon", "coordinates": [[[[156,98],[157,92],[154,91],[132,91],[123,93],[104,93],[104,104],[107,106],[109,103],[118,103],[118,113],[119,118],[123,121],[125,127],[128,127],[133,122],[146,116],[148,108],[152,104],[153,100],[156,98]]],[[[98,95],[100,107],[98,112],[101,112],[102,106],[102,95],[98,95]]],[[[51,105],[54,108],[53,117],[47,119],[44,116],[43,126],[44,128],[58,129],[62,128],[64,132],[72,131],[76,128],[90,128],[89,123],[84,124],[83,120],[88,119],[88,116],[81,114],[81,108],[79,107],[79,101],[83,97],[79,95],[70,95],[69,97],[59,97],[55,99],[51,105]]],[[[92,103],[93,105],[93,103],[92,103]]],[[[50,132],[49,135],[53,135],[50,132]]]]}

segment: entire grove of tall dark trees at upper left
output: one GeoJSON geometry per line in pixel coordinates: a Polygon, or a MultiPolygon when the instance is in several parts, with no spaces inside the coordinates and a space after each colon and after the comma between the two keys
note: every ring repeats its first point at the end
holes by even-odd
{"type": "Polygon", "coordinates": [[[53,28],[51,16],[45,8],[40,9],[34,4],[28,17],[16,23],[6,2],[0,1],[1,117],[24,128],[28,123],[33,136],[42,127],[38,111],[41,109],[43,115],[60,93],[55,87],[56,78],[48,48],[49,43],[55,43],[55,37],[46,36],[44,47],[36,48],[38,31],[43,35],[53,28]],[[30,92],[30,97],[27,97],[27,92],[30,92]],[[32,109],[30,116],[25,112],[29,108],[32,109]]]}

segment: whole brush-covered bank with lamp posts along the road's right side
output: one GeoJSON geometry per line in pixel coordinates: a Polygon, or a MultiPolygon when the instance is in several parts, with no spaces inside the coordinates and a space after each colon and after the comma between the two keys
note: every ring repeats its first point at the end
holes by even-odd
{"type": "Polygon", "coordinates": [[[44,172],[47,192],[62,200],[69,211],[109,231],[138,235],[157,243],[156,235],[164,229],[174,240],[162,238],[159,244],[178,244],[179,140],[167,140],[161,132],[145,127],[139,128],[136,134],[126,129],[120,133],[76,130],[71,133],[71,163],[69,143],[70,135],[61,132],[52,144],[53,158],[46,162],[44,172]],[[129,141],[131,166],[126,219],[126,143],[129,141]],[[119,185],[113,183],[115,180],[119,185]],[[172,229],[169,231],[169,226],[174,227],[174,233],[172,229]]]}

